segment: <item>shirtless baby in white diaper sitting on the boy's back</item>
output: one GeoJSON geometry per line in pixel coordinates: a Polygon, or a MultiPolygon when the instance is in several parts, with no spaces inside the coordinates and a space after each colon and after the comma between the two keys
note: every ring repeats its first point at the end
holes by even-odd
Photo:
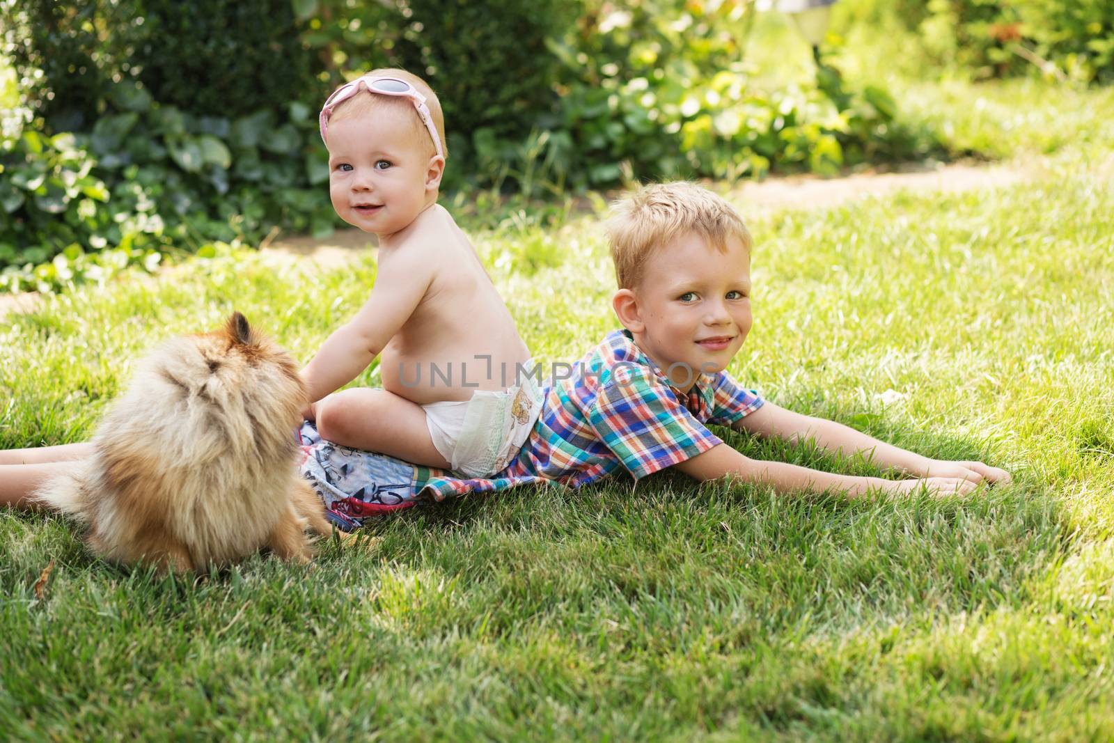
{"type": "Polygon", "coordinates": [[[507,306],[437,204],[443,131],[437,96],[403,70],[369,72],[322,108],[333,207],[379,237],[379,265],[303,370],[306,417],[335,443],[482,477],[518,452],[540,395],[507,306]],[[375,356],[383,389],[334,392],[375,356]]]}

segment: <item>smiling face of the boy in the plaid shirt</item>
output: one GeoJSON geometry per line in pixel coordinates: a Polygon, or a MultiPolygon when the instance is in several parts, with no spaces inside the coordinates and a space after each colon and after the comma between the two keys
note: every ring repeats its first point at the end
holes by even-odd
{"type": "Polygon", "coordinates": [[[751,330],[750,253],[737,237],[726,248],[697,234],[678,237],[649,256],[636,287],[616,294],[638,348],[685,392],[700,374],[723,371],[751,330]]]}

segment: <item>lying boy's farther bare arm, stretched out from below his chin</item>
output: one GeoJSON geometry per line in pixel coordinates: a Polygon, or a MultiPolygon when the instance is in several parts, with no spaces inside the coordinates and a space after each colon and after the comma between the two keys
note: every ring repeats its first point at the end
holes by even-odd
{"type": "Polygon", "coordinates": [[[737,430],[762,437],[778,437],[791,443],[812,439],[828,451],[851,456],[862,453],[873,463],[889,467],[917,477],[964,478],[974,482],[1009,481],[1009,473],[983,462],[951,462],[929,459],[900,447],[879,441],[853,428],[804,416],[766,402],[756,411],[737,421],[737,430]]]}

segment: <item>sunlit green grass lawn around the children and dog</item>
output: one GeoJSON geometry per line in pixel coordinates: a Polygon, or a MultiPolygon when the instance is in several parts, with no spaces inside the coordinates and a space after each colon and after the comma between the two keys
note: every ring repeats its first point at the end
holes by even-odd
{"type": "MultiPolygon", "coordinates": [[[[1114,136],[1091,113],[1111,97],[984,92],[1003,115],[978,126],[1014,155],[1066,126],[1065,96],[1088,110],[1020,185],[751,218],[755,324],[732,371],[1014,486],[520,489],[384,518],[312,567],[197,578],[0,512],[0,737],[1111,739],[1114,136]]],[[[978,129],[958,101],[935,110],[978,129]]],[[[472,235],[536,355],[571,360],[615,326],[599,218],[534,222],[472,235]]],[[[139,354],[234,307],[307,360],[373,277],[370,257],[321,273],[242,253],[0,321],[0,447],[82,439],[139,354]]]]}

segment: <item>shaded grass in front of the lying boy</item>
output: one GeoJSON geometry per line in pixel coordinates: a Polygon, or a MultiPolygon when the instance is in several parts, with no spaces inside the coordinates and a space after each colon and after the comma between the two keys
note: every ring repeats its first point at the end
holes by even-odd
{"type": "MultiPolygon", "coordinates": [[[[755,459],[899,477],[814,446],[716,433],[755,459]]],[[[995,462],[983,442],[898,433],[917,441],[925,456],[995,462]]],[[[755,629],[775,634],[1019,606],[1072,540],[1056,499],[1025,472],[1009,486],[968,497],[858,500],[776,496],[741,482],[694,485],[663,472],[637,487],[627,479],[578,491],[521,488],[446,501],[373,524],[369,536],[380,558],[462,575],[465,585],[499,584],[495,593],[506,610],[494,614],[502,614],[508,627],[521,619],[516,602],[537,603],[530,595],[571,598],[563,610],[576,614],[614,594],[628,605],[668,597],[686,606],[734,607],[756,618],[755,629]],[[482,556],[481,568],[461,560],[462,553],[482,556]],[[500,565],[521,567],[492,569],[500,565]]]]}

